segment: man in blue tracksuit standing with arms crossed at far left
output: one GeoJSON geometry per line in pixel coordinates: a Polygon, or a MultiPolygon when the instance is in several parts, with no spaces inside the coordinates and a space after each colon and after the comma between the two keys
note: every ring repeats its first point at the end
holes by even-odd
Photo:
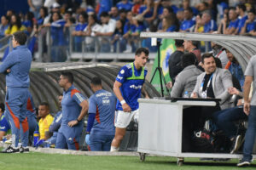
{"type": "Polygon", "coordinates": [[[6,75],[6,115],[12,130],[12,142],[4,152],[14,153],[29,151],[28,123],[26,117],[26,102],[29,94],[29,71],[32,63],[32,54],[26,48],[26,34],[17,31],[13,34],[12,43],[14,50],[0,65],[0,72],[6,75]],[[19,137],[22,146],[18,148],[19,137]]]}

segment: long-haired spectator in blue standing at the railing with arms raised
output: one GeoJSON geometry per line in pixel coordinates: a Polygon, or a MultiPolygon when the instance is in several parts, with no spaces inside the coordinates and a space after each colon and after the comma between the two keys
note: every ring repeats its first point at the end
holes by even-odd
{"type": "Polygon", "coordinates": [[[52,62],[63,62],[67,59],[66,46],[67,41],[64,36],[63,28],[66,24],[65,20],[61,19],[60,13],[53,13],[50,23],[44,26],[50,27],[51,35],[51,61],[52,62]]]}

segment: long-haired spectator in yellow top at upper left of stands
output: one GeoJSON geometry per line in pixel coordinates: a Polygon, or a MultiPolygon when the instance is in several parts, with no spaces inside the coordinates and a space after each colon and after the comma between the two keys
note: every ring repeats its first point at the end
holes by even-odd
{"type": "Polygon", "coordinates": [[[13,14],[11,16],[11,21],[8,29],[4,32],[6,36],[14,34],[16,31],[26,30],[25,26],[21,25],[20,16],[18,14],[13,14]]]}

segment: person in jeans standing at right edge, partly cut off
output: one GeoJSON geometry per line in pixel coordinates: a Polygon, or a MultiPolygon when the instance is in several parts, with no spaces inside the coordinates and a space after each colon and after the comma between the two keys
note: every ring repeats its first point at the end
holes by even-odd
{"type": "MultiPolygon", "coordinates": [[[[245,167],[251,164],[253,161],[253,144],[255,142],[255,136],[256,136],[256,95],[255,91],[253,90],[253,97],[251,99],[251,103],[249,100],[249,93],[251,89],[252,82],[256,81],[255,75],[256,75],[256,56],[254,55],[248,65],[247,69],[245,71],[245,82],[243,87],[243,111],[248,116],[248,127],[247,127],[247,133],[245,136],[245,142],[243,145],[243,157],[241,161],[237,164],[238,167],[245,167]]],[[[253,83],[253,89],[255,89],[255,83],[253,83]]]]}

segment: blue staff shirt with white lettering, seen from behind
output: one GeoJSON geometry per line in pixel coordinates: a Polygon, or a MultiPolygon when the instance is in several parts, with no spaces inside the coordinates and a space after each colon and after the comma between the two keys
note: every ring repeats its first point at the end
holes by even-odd
{"type": "Polygon", "coordinates": [[[100,130],[114,134],[114,111],[116,97],[106,90],[98,90],[89,99],[88,113],[96,114],[92,131],[100,130]]]}

